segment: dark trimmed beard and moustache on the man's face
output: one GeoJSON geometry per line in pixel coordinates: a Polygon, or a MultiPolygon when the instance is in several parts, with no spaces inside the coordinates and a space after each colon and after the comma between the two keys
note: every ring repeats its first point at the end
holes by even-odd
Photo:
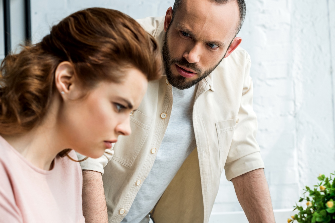
{"type": "Polygon", "coordinates": [[[180,90],[184,90],[184,89],[188,89],[188,88],[194,86],[195,84],[200,82],[202,79],[204,79],[208,75],[210,75],[210,73],[212,73],[215,70],[215,68],[223,60],[224,56],[219,61],[219,63],[217,63],[214,67],[212,67],[212,68],[210,68],[206,71],[202,71],[195,63],[192,63],[192,64],[189,63],[186,60],[186,58],[184,58],[184,57],[182,59],[177,59],[177,58],[171,59],[169,46],[167,45],[167,32],[168,31],[169,31],[169,28],[166,30],[166,33],[165,33],[163,48],[162,48],[162,56],[163,56],[163,62],[164,62],[164,66],[165,66],[166,79],[167,79],[167,81],[169,81],[169,83],[173,87],[178,88],[180,90]],[[188,78],[185,78],[181,75],[174,76],[172,74],[172,71],[171,71],[171,65],[172,64],[177,64],[178,66],[186,67],[186,68],[189,68],[189,69],[193,70],[195,73],[197,73],[198,78],[189,81],[188,78]]]}

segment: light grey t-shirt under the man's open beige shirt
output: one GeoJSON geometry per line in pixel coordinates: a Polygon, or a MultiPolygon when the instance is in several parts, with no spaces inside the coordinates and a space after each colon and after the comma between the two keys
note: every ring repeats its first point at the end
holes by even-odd
{"type": "Polygon", "coordinates": [[[195,149],[192,112],[197,89],[198,84],[185,90],[172,87],[173,106],[169,125],[151,171],[128,214],[122,220],[123,223],[149,222],[148,213],[156,205],[187,156],[195,149]]]}

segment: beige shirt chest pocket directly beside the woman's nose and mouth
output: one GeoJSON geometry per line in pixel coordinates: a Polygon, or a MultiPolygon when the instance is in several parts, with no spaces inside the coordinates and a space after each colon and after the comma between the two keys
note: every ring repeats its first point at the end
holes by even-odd
{"type": "Polygon", "coordinates": [[[118,142],[113,147],[112,159],[131,167],[148,136],[151,123],[152,118],[135,111],[130,116],[131,134],[119,136],[118,142]]]}

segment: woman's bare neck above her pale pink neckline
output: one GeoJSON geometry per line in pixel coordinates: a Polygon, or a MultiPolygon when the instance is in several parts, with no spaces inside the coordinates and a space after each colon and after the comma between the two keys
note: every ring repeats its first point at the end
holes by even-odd
{"type": "Polygon", "coordinates": [[[57,130],[59,103],[53,102],[42,123],[34,129],[16,135],[2,135],[31,164],[43,170],[50,170],[57,154],[66,148],[57,130]]]}

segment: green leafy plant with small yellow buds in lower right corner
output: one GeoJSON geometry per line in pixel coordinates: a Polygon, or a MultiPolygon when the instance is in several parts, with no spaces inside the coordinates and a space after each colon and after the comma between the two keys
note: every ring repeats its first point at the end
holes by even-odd
{"type": "MultiPolygon", "coordinates": [[[[294,206],[294,210],[299,212],[287,219],[288,223],[297,221],[299,223],[317,223],[317,222],[335,222],[335,180],[320,174],[318,180],[320,183],[314,185],[314,189],[306,186],[304,189],[304,198],[300,198],[299,202],[306,201],[307,208],[302,206],[294,206]],[[308,193],[307,197],[305,194],[308,193]]],[[[294,211],[293,210],[293,211],[294,211]]]]}

